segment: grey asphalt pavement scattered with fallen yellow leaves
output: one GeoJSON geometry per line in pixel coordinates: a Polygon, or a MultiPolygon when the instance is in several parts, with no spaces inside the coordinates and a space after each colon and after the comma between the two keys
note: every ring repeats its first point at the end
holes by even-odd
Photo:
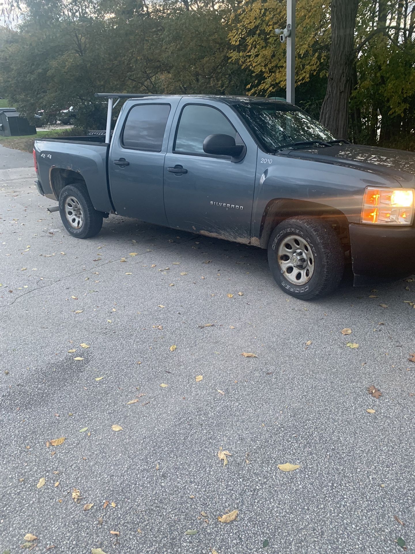
{"type": "Polygon", "coordinates": [[[31,166],[0,147],[0,552],[411,552],[415,281],[304,302],[254,247],[77,240],[31,166]]]}

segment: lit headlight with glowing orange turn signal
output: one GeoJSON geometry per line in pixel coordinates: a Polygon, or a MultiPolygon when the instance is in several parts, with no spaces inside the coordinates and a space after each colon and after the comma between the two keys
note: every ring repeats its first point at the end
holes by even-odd
{"type": "Polygon", "coordinates": [[[366,187],[361,223],[411,225],[414,197],[412,188],[366,187]]]}

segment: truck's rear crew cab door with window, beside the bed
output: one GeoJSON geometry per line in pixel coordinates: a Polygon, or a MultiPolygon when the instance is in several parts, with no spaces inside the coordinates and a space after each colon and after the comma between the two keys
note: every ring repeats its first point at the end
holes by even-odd
{"type": "Polygon", "coordinates": [[[108,177],[120,216],[168,225],[164,212],[163,168],[178,99],[132,100],[123,106],[113,133],[108,177]]]}

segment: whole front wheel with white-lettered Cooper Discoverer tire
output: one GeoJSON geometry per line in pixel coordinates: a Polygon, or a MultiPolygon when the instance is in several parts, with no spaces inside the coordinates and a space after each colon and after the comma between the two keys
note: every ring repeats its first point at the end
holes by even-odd
{"type": "Polygon", "coordinates": [[[344,273],[344,253],[329,223],[314,217],[285,219],[268,242],[276,283],[295,298],[311,300],[333,292],[344,273]]]}

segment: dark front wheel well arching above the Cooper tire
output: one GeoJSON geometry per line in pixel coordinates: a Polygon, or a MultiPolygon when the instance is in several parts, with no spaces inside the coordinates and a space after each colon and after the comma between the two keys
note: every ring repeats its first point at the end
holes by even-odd
{"type": "Polygon", "coordinates": [[[349,222],[343,212],[325,206],[325,204],[288,198],[275,198],[268,202],[261,220],[260,247],[267,248],[269,237],[277,225],[284,219],[294,216],[313,216],[324,219],[333,227],[345,252],[347,251],[347,247],[350,245],[349,222]]]}

